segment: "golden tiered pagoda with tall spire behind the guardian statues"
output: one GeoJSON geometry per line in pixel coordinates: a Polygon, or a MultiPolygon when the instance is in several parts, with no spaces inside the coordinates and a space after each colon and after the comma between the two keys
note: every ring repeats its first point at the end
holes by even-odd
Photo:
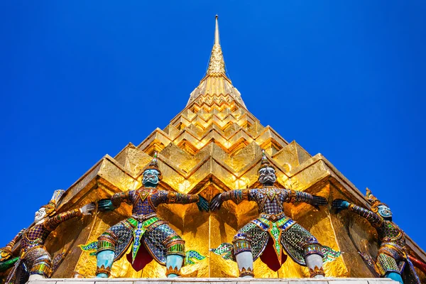
{"type": "MultiPolygon", "coordinates": [[[[214,45],[207,73],[190,94],[185,109],[164,129],[155,129],[138,144],[129,143],[115,157],[105,155],[71,185],[58,212],[65,212],[101,200],[116,192],[141,187],[141,175],[158,152],[163,180],[160,189],[202,195],[207,200],[220,192],[258,187],[257,170],[262,149],[275,166],[278,187],[301,190],[326,197],[329,203],[344,198],[368,207],[361,193],[323,155],[310,155],[295,141],[285,141],[271,126],[263,126],[249,112],[241,94],[226,76],[216,17],[214,45]]],[[[365,219],[350,212],[332,214],[330,204],[320,210],[308,204],[288,204],[285,212],[319,239],[342,255],[325,263],[327,277],[374,277],[361,253],[377,255],[375,229],[365,219]]],[[[79,248],[96,241],[112,224],[131,215],[123,204],[114,212],[96,212],[92,217],[72,219],[50,234],[46,247],[53,258],[61,259],[53,278],[93,277],[96,258],[79,248]]],[[[217,212],[199,212],[195,204],[169,204],[158,207],[158,215],[186,241],[187,249],[207,256],[195,265],[184,266],[187,277],[237,277],[236,263],[225,261],[209,249],[231,241],[236,231],[258,215],[256,204],[226,202],[217,212]]],[[[426,253],[407,236],[410,254],[426,262],[426,253]]],[[[260,259],[254,263],[258,278],[305,278],[307,268],[290,259],[278,272],[260,259]]],[[[417,270],[422,281],[425,273],[417,270]]],[[[113,278],[163,278],[165,267],[155,261],[134,271],[126,258],[114,263],[113,278]]]]}

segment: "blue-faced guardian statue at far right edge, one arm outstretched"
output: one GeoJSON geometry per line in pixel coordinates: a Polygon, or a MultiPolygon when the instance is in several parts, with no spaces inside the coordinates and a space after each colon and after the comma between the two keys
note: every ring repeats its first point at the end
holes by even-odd
{"type": "Polygon", "coordinates": [[[351,204],[346,200],[334,200],[333,207],[337,208],[338,212],[342,209],[349,209],[367,219],[376,229],[380,242],[376,258],[376,271],[381,277],[392,278],[405,284],[420,284],[406,250],[405,233],[392,222],[391,209],[374,197],[368,188],[366,198],[371,204],[371,210],[351,204]]]}

